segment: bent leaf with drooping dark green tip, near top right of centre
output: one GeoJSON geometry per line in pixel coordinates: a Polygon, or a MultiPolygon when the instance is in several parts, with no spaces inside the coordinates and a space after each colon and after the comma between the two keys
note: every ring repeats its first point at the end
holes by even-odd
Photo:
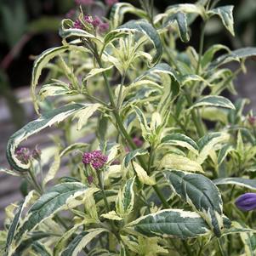
{"type": "Polygon", "coordinates": [[[167,27],[170,25],[176,25],[179,31],[179,37],[182,42],[189,42],[190,35],[189,35],[189,28],[187,25],[186,15],[184,13],[175,13],[169,14],[168,17],[163,21],[163,26],[167,27]]]}

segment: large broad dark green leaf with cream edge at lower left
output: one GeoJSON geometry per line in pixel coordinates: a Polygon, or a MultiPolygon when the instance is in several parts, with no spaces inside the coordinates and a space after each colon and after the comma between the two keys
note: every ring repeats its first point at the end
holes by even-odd
{"type": "Polygon", "coordinates": [[[76,200],[78,196],[91,196],[99,191],[96,188],[88,188],[80,182],[69,182],[54,185],[46,191],[29,209],[26,219],[20,226],[15,240],[20,240],[27,232],[34,230],[43,220],[51,218],[55,213],[66,208],[75,208],[84,202],[76,200]]]}

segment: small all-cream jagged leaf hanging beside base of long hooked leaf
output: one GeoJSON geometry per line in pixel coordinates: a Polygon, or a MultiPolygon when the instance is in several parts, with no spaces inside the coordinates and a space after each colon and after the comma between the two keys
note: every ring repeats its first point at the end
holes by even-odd
{"type": "Polygon", "coordinates": [[[100,103],[94,104],[84,104],[84,107],[81,110],[78,110],[74,116],[77,118],[77,130],[81,130],[82,126],[88,122],[88,118],[93,116],[94,112],[97,111],[100,106],[100,103]]]}

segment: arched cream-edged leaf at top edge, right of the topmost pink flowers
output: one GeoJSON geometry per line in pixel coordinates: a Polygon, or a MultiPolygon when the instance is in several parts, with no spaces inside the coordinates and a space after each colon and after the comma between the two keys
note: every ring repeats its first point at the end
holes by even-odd
{"type": "Polygon", "coordinates": [[[127,13],[135,14],[141,18],[146,18],[145,11],[142,9],[135,8],[130,3],[116,3],[112,7],[110,14],[110,20],[113,24],[113,28],[117,28],[117,26],[122,24],[124,14],[127,13]]]}

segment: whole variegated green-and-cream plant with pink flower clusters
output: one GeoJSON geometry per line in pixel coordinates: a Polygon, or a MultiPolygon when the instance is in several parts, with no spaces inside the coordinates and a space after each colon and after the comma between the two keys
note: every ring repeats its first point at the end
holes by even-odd
{"type": "Polygon", "coordinates": [[[213,16],[234,35],[233,7],[218,2],[162,14],[153,1],[116,3],[105,21],[81,7],[62,20],[62,45],[32,71],[38,118],[7,146],[11,169],[2,171],[27,191],[6,208],[1,255],[255,255],[255,215],[234,198],[256,190],[256,118],[243,116],[245,100],[221,94],[235,93],[256,48],[204,49],[213,16]],[[137,19],[123,24],[127,13],[137,19]],[[198,50],[187,44],[197,17],[198,50]],[[39,132],[52,145],[21,147],[39,132]]]}

